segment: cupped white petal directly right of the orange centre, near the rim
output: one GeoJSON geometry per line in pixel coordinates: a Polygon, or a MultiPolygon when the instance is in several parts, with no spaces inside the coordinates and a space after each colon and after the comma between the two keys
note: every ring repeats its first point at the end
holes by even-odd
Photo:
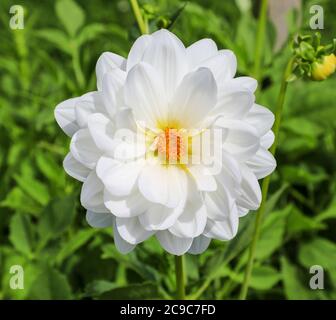
{"type": "Polygon", "coordinates": [[[216,121],[216,125],[228,129],[223,149],[240,161],[251,158],[259,149],[260,139],[257,130],[248,123],[221,117],[216,121]]]}

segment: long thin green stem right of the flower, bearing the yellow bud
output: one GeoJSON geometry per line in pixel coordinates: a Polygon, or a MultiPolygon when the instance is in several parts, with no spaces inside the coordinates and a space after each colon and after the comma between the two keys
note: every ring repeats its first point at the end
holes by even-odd
{"type": "MultiPolygon", "coordinates": [[[[272,130],[274,132],[274,143],[273,143],[272,147],[270,148],[270,152],[273,155],[275,154],[277,144],[278,144],[282,110],[283,110],[283,106],[284,106],[284,101],[285,101],[285,96],[286,96],[286,91],[287,91],[287,85],[288,85],[287,79],[290,76],[290,74],[292,73],[292,66],[293,66],[293,59],[291,59],[288,62],[287,67],[285,69],[285,72],[284,72],[284,75],[283,75],[283,78],[282,78],[282,82],[281,82],[278,101],[277,101],[277,105],[276,105],[275,121],[274,121],[274,125],[273,125],[273,128],[272,128],[272,130]]],[[[267,199],[267,193],[268,193],[268,187],[269,187],[270,180],[271,180],[271,175],[268,175],[266,178],[264,178],[264,180],[262,182],[262,187],[261,187],[262,200],[261,200],[259,210],[257,211],[257,214],[256,214],[253,238],[252,238],[252,242],[251,242],[251,245],[250,245],[249,256],[248,256],[248,261],[247,261],[247,265],[246,265],[243,285],[242,285],[240,296],[239,296],[239,298],[241,300],[245,300],[246,296],[247,296],[247,291],[248,291],[248,287],[249,287],[249,283],[250,283],[250,279],[251,279],[251,274],[252,274],[252,270],[253,270],[253,262],[254,262],[254,257],[255,257],[255,251],[256,251],[257,242],[258,242],[259,234],[260,234],[261,221],[262,221],[262,217],[263,217],[263,214],[264,214],[264,211],[265,211],[265,205],[266,205],[266,199],[267,199]]]]}

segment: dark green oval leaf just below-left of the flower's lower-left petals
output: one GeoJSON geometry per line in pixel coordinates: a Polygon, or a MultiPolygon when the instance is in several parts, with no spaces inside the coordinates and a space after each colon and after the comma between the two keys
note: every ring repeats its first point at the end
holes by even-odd
{"type": "Polygon", "coordinates": [[[58,237],[72,223],[75,216],[74,197],[53,199],[42,211],[38,224],[38,233],[42,241],[58,237]]]}

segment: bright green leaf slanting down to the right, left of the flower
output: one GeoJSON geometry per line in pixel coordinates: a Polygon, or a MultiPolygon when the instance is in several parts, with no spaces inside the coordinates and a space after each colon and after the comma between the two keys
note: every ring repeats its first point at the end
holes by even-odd
{"type": "Polygon", "coordinates": [[[30,176],[14,175],[14,179],[20,188],[43,206],[49,202],[48,188],[40,181],[30,176]]]}

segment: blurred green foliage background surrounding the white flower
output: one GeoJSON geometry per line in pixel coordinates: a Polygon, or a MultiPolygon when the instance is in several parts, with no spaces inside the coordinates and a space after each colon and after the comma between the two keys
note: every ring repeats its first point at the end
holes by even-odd
{"type": "MultiPolygon", "coordinates": [[[[142,1],[152,31],[171,27],[186,45],[213,38],[232,49],[239,74],[251,74],[258,1],[142,1]]],[[[322,41],[335,35],[333,1],[304,1],[288,14],[290,35],[309,30],[309,7],[325,12],[322,41]]],[[[127,55],[139,35],[126,0],[0,3],[0,298],[155,299],[174,294],[173,257],[155,239],[118,253],[110,229],[88,227],[80,184],[66,176],[68,139],[54,120],[57,103],[95,89],[103,51],[127,55]],[[9,8],[25,7],[25,28],[10,30],[9,8]],[[9,287],[12,265],[25,271],[24,290],[9,287]]],[[[274,52],[268,22],[258,102],[274,109],[288,42],[274,52]]],[[[250,298],[336,299],[336,79],[289,86],[278,167],[258,243],[250,298]],[[310,266],[325,270],[325,290],[310,290],[310,266]]],[[[238,236],[186,255],[193,298],[237,298],[254,214],[238,236]]]]}

